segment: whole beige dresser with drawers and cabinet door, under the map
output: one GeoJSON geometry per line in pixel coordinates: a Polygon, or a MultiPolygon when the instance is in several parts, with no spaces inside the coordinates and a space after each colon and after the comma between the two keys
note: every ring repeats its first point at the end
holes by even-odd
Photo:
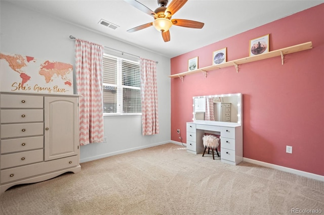
{"type": "Polygon", "coordinates": [[[80,172],[77,95],[0,94],[0,193],[80,172]]]}

